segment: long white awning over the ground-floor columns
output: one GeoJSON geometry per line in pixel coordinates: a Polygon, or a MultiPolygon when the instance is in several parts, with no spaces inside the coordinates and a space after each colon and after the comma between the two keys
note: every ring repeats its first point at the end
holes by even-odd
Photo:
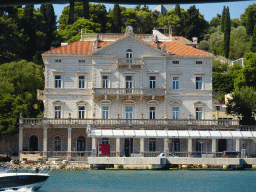
{"type": "Polygon", "coordinates": [[[119,130],[92,129],[89,137],[108,138],[208,138],[255,139],[256,131],[198,131],[198,130],[119,130]]]}

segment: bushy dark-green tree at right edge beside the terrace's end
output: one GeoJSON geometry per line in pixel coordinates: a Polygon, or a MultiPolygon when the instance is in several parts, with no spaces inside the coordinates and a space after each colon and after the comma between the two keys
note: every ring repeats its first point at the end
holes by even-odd
{"type": "Polygon", "coordinates": [[[255,124],[252,113],[256,112],[256,93],[253,88],[242,87],[231,94],[228,100],[227,114],[242,115],[242,125],[255,124]]]}

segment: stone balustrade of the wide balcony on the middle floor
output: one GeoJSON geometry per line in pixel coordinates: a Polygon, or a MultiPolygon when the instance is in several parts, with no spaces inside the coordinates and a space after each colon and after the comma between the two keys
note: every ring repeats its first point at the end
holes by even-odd
{"type": "Polygon", "coordinates": [[[95,88],[94,95],[164,96],[165,89],[95,88]]]}

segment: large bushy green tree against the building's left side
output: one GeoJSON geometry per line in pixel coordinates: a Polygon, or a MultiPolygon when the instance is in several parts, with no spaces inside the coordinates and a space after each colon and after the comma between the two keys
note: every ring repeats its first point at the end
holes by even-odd
{"type": "Polygon", "coordinates": [[[43,112],[37,89],[44,88],[43,68],[21,60],[0,65],[0,134],[18,132],[20,113],[36,118],[43,112]]]}

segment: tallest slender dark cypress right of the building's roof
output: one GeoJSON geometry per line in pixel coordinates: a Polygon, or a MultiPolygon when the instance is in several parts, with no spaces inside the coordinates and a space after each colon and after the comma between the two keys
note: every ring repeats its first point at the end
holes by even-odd
{"type": "Polygon", "coordinates": [[[230,32],[231,32],[230,14],[229,14],[229,8],[227,7],[226,13],[225,13],[225,22],[224,22],[224,56],[226,58],[229,57],[230,32]]]}

